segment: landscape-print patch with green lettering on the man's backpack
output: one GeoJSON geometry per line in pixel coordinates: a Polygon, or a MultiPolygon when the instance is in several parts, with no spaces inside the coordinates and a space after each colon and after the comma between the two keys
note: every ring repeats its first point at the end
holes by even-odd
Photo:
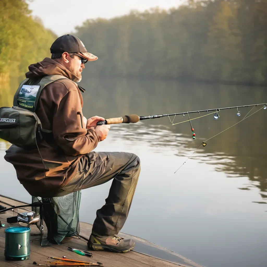
{"type": "Polygon", "coordinates": [[[34,111],[35,100],[40,85],[23,85],[18,94],[18,107],[34,111]]]}

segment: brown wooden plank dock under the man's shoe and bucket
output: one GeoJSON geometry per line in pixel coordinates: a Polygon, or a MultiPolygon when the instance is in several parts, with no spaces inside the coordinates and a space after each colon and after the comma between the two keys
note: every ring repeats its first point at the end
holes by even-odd
{"type": "MultiPolygon", "coordinates": [[[[10,205],[24,205],[25,203],[15,201],[13,199],[0,196],[0,200],[10,205]]],[[[0,203],[2,206],[7,206],[0,203]]],[[[28,209],[31,209],[30,207],[28,209]]],[[[25,212],[26,210],[19,209],[19,212],[25,212]]],[[[6,221],[7,217],[15,216],[13,211],[7,211],[6,213],[0,213],[0,221],[5,224],[5,227],[0,228],[0,266],[1,267],[19,267],[19,266],[35,266],[33,262],[38,264],[44,264],[44,261],[48,260],[48,257],[62,258],[66,256],[68,259],[101,262],[105,267],[202,267],[195,262],[182,257],[170,250],[164,249],[159,245],[156,245],[150,241],[144,240],[139,237],[132,237],[130,235],[119,233],[119,236],[124,238],[133,238],[136,241],[136,247],[134,251],[128,253],[112,253],[106,251],[91,251],[93,257],[80,256],[74,252],[67,250],[67,247],[78,248],[81,250],[89,250],[87,243],[83,239],[77,239],[75,237],[64,240],[61,245],[52,245],[49,247],[41,247],[40,240],[31,241],[30,243],[30,259],[25,261],[6,261],[4,256],[5,250],[5,228],[12,226],[19,226],[17,223],[9,224],[6,221]],[[148,250],[144,248],[149,248],[148,250]],[[138,248],[139,247],[139,248],[138,248]],[[150,255],[143,254],[140,250],[152,251],[150,255]],[[153,255],[152,255],[153,254],[153,255]],[[151,256],[152,255],[152,256],[151,256]],[[160,258],[159,258],[160,257],[160,258]],[[43,262],[42,262],[43,261],[43,262]]],[[[26,224],[22,224],[27,226],[26,224]]],[[[39,234],[40,231],[35,225],[30,226],[31,233],[39,234]]],[[[89,238],[91,234],[92,225],[85,222],[80,222],[80,234],[86,238],[89,238]]],[[[36,239],[38,236],[31,236],[31,239],[36,239]]]]}

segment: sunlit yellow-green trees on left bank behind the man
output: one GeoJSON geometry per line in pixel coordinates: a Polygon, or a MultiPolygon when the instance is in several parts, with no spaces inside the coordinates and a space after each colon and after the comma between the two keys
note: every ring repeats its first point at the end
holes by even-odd
{"type": "Polygon", "coordinates": [[[0,104],[10,104],[28,66],[50,56],[56,35],[34,18],[26,0],[0,1],[0,104]],[[14,86],[9,93],[9,86],[14,86]]]}

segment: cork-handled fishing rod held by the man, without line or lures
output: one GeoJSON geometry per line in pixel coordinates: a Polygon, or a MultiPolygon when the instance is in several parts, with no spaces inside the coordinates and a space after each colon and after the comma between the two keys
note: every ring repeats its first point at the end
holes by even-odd
{"type": "MultiPolygon", "coordinates": [[[[238,108],[244,108],[244,107],[257,107],[264,105],[264,109],[267,108],[267,104],[254,104],[254,105],[245,105],[245,106],[235,106],[235,107],[228,107],[228,108],[214,108],[214,109],[204,109],[204,110],[197,110],[197,111],[186,111],[186,112],[179,112],[179,113],[170,113],[170,114],[161,114],[161,115],[149,115],[149,116],[138,116],[135,114],[132,115],[125,115],[119,118],[110,118],[106,119],[104,121],[98,121],[96,125],[104,125],[104,124],[118,124],[118,123],[137,123],[139,120],[147,120],[147,119],[156,119],[156,118],[162,118],[162,117],[169,117],[169,116],[176,116],[176,115],[183,115],[189,114],[189,113],[200,113],[200,112],[209,112],[209,111],[215,111],[214,113],[214,119],[219,119],[218,112],[223,109],[237,109],[237,116],[240,116],[240,112],[238,108]]],[[[190,119],[189,119],[190,121],[190,119]]],[[[172,121],[173,122],[173,121],[172,121]]],[[[190,122],[191,124],[191,122],[190,122]]],[[[192,127],[193,129],[193,127],[192,127]]],[[[192,131],[193,132],[193,131],[192,131]]]]}

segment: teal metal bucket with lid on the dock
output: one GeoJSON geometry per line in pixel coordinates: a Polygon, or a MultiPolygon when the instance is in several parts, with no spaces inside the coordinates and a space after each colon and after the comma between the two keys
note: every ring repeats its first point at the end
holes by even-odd
{"type": "Polygon", "coordinates": [[[6,260],[28,260],[30,255],[30,231],[29,227],[9,227],[5,229],[6,260]]]}

